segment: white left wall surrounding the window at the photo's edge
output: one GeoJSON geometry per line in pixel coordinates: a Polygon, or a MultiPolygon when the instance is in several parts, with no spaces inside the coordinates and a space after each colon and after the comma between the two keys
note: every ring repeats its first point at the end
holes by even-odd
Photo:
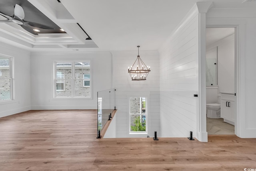
{"type": "Polygon", "coordinates": [[[0,102],[0,117],[30,110],[30,52],[0,42],[0,54],[13,57],[15,95],[11,102],[0,102]]]}

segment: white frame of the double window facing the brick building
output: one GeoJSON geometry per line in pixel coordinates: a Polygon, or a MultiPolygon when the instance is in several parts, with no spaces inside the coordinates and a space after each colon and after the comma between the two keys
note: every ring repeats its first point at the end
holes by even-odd
{"type": "MultiPolygon", "coordinates": [[[[91,60],[77,60],[77,61],[54,61],[54,98],[55,99],[61,99],[61,98],[83,98],[83,99],[92,99],[92,61],[91,60]],[[85,86],[85,87],[90,87],[90,96],[75,96],[75,80],[79,80],[79,79],[75,79],[75,63],[80,63],[80,62],[88,62],[90,63],[90,86],[85,86]],[[61,80],[61,79],[57,79],[57,67],[56,64],[57,63],[71,63],[71,71],[72,71],[72,78],[71,79],[63,79],[64,82],[56,82],[57,80],[61,80]],[[70,80],[71,81],[71,96],[57,96],[56,92],[60,92],[60,91],[64,91],[65,90],[65,80],[70,80]],[[56,90],[56,83],[63,83],[63,89],[64,90],[56,90]]],[[[65,77],[65,74],[64,74],[65,77]]],[[[83,75],[84,77],[84,75],[83,75]]],[[[84,80],[83,78],[80,80],[84,80]]],[[[83,83],[84,85],[84,83],[83,83]]]]}

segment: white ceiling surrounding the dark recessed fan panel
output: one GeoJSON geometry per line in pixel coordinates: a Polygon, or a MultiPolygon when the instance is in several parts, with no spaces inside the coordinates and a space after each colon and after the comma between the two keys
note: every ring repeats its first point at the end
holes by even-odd
{"type": "MultiPolygon", "coordinates": [[[[26,36],[17,27],[0,23],[0,41],[30,51],[133,51],[137,49],[137,45],[140,45],[142,51],[158,50],[196,2],[209,2],[60,0],[61,6],[66,8],[64,9],[57,0],[28,1],[67,32],[62,37],[51,38],[48,35],[49,38],[45,39],[42,36],[26,36]],[[76,28],[76,23],[82,26],[92,40],[85,40],[86,36],[76,28]],[[15,32],[19,32],[18,36],[15,32]],[[28,43],[27,46],[24,42],[28,43]]],[[[242,3],[244,0],[212,1],[212,8],[256,8],[256,3],[242,3]]]]}

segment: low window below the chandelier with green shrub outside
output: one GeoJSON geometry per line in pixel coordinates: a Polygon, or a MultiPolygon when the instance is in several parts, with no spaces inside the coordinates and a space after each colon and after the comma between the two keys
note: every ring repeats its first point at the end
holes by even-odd
{"type": "Polygon", "coordinates": [[[129,101],[130,133],[147,133],[146,97],[131,97],[129,101]]]}

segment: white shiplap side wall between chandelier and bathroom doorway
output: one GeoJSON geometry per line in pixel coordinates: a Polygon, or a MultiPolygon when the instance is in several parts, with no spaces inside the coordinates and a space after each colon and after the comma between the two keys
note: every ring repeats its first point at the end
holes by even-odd
{"type": "Polygon", "coordinates": [[[162,137],[196,136],[198,12],[183,20],[159,50],[162,137]]]}

